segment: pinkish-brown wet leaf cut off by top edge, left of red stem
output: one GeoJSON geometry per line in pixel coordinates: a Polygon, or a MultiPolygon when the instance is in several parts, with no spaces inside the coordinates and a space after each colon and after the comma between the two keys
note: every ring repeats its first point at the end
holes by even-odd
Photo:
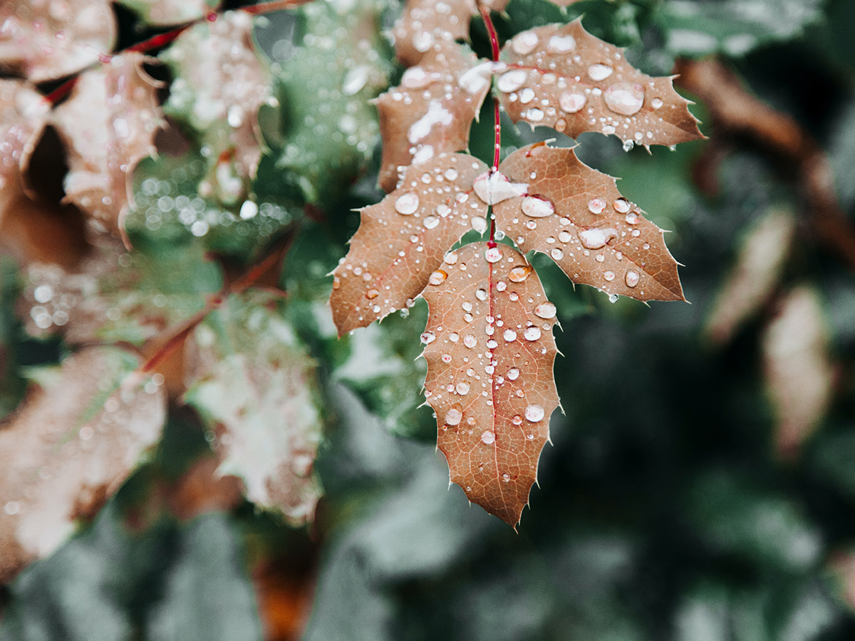
{"type": "MultiPolygon", "coordinates": [[[[481,0],[502,11],[508,0],[481,0]]],[[[395,51],[405,65],[419,62],[429,50],[455,40],[469,40],[469,21],[478,15],[475,0],[407,0],[404,13],[392,29],[395,51]]]]}

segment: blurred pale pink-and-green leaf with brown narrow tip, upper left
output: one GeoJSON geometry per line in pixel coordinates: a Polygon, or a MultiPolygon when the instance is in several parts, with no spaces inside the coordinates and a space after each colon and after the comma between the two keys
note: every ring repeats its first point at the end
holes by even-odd
{"type": "Polygon", "coordinates": [[[251,191],[262,154],[258,109],[271,99],[273,76],[252,28],[251,15],[228,11],[188,29],[160,56],[175,76],[163,109],[207,148],[200,191],[227,205],[251,191]]]}

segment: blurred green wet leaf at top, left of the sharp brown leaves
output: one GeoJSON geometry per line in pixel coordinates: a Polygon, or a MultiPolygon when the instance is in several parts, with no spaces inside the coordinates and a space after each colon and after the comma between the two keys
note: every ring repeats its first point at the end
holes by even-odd
{"type": "MultiPolygon", "coordinates": [[[[379,0],[309,3],[299,11],[302,44],[280,62],[280,126],[286,144],[276,167],[298,176],[310,203],[335,203],[380,138],[368,103],[386,89],[390,52],[379,0]]],[[[272,143],[272,141],[270,141],[272,143]]]]}

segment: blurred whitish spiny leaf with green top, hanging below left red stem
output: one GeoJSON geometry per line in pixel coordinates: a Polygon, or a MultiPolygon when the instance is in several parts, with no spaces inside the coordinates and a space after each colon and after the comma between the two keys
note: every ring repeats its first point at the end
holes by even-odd
{"type": "Polygon", "coordinates": [[[302,525],[321,495],[312,473],[321,441],[315,362],[271,302],[253,296],[230,298],[197,327],[199,363],[185,398],[218,434],[219,472],[302,525]]]}

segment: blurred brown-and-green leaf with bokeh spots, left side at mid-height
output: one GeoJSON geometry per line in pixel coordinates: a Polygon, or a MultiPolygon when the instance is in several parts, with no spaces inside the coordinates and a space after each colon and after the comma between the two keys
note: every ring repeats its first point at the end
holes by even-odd
{"type": "Polygon", "coordinates": [[[142,344],[198,312],[221,286],[220,269],[198,243],[127,253],[102,238],[74,271],[30,265],[17,309],[35,337],[142,344]]]}

